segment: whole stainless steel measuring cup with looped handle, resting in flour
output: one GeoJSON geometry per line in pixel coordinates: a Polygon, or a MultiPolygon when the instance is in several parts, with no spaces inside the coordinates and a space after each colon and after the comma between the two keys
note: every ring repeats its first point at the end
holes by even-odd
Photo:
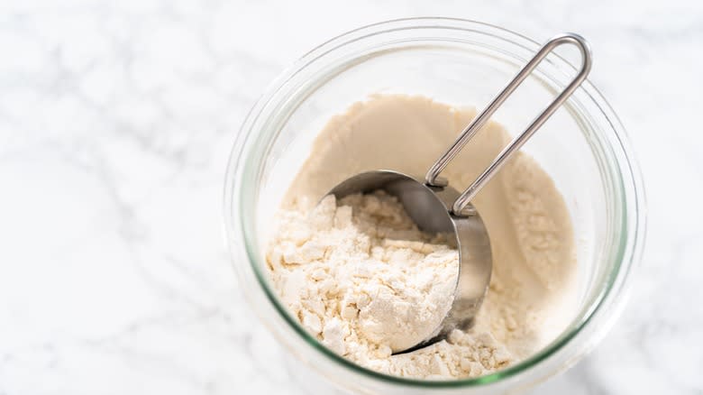
{"type": "Polygon", "coordinates": [[[479,212],[471,204],[471,200],[573,94],[588,76],[590,67],[591,54],[588,43],[578,34],[558,35],[547,41],[498,96],[466,126],[452,146],[434,162],[425,177],[407,175],[395,170],[373,170],[345,179],[330,190],[329,194],[333,194],[336,198],[343,198],[347,195],[383,189],[398,199],[419,229],[429,233],[450,233],[456,238],[459,250],[459,273],[449,312],[432,334],[425,339],[418,339],[418,344],[409,349],[396,350],[395,354],[407,353],[433,344],[445,338],[453,329],[465,329],[471,325],[488,291],[493,265],[486,226],[479,212]],[[537,65],[556,47],[566,43],[575,45],[580,51],[581,66],[576,77],[522,133],[519,133],[498,153],[488,168],[479,174],[468,188],[461,193],[452,188],[446,179],[440,177],[440,173],[537,65]]]}

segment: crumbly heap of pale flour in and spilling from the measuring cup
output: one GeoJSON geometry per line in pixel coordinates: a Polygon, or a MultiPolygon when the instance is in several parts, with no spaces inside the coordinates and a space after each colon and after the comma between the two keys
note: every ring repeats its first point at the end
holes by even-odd
{"type": "Polygon", "coordinates": [[[343,198],[339,207],[328,196],[309,216],[282,218],[268,259],[274,280],[324,344],[358,360],[366,350],[388,356],[434,334],[459,270],[452,234],[420,232],[382,191],[343,198]]]}

